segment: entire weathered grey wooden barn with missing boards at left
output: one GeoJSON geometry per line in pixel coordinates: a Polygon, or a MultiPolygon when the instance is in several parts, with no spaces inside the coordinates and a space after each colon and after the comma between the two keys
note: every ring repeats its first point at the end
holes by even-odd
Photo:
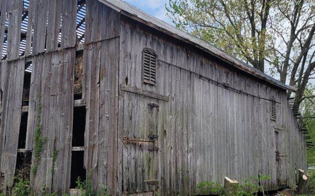
{"type": "Polygon", "coordinates": [[[91,178],[112,195],[196,195],[270,175],[296,188],[295,90],[121,0],[0,0],[0,183],[91,178]],[[294,109],[294,107],[293,107],[294,109]]]}

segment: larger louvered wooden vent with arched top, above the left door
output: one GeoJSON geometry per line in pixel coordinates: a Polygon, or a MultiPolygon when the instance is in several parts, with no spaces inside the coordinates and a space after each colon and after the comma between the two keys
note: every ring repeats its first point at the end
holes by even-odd
{"type": "Polygon", "coordinates": [[[145,48],[142,52],[142,80],[156,84],[157,55],[154,50],[145,48]]]}

